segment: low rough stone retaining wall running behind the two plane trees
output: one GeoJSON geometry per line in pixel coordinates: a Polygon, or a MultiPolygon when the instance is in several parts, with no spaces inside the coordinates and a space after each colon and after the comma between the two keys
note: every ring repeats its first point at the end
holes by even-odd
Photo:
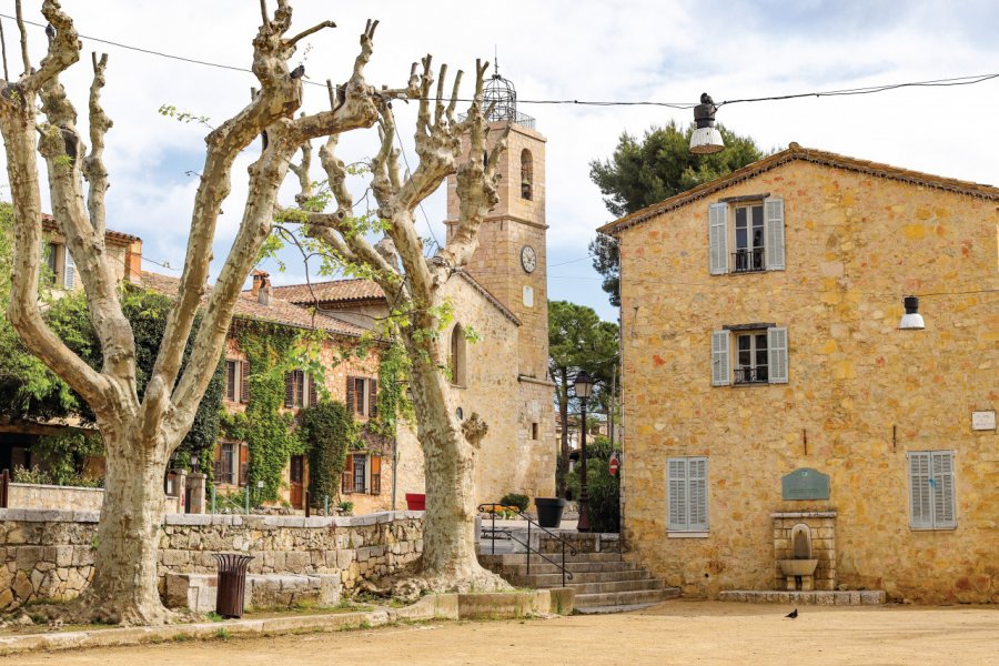
{"type": "MultiPolygon", "coordinates": [[[[97,512],[0,509],[0,610],[36,598],[69,599],[93,574],[97,512]]],[[[254,557],[251,574],[391,574],[423,552],[423,513],[357,517],[168,514],[160,532],[160,591],[168,573],[214,573],[214,553],[254,557]]]]}

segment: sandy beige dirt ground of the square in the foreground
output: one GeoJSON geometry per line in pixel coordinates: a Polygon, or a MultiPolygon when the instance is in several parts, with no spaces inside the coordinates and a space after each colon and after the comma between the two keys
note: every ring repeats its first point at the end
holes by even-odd
{"type": "Polygon", "coordinates": [[[643,612],[461,622],[0,658],[46,666],[511,664],[999,665],[997,607],[815,607],[676,599],[643,612]]]}

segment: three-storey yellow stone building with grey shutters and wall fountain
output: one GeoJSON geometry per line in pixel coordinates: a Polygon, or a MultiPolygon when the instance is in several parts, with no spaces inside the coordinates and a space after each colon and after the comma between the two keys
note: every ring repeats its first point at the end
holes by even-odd
{"type": "Polygon", "coordinates": [[[635,556],[697,595],[999,602],[997,202],[791,143],[604,226],[635,556]]]}

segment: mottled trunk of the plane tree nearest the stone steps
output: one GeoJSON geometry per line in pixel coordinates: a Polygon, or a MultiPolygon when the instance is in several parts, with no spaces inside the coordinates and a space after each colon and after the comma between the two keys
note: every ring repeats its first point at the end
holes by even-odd
{"type": "MultiPolygon", "coordinates": [[[[426,342],[405,337],[411,359],[421,359],[411,375],[426,480],[420,585],[437,592],[507,589],[505,581],[478,564],[475,549],[475,456],[481,435],[470,443],[451,413],[447,381],[428,361],[434,355],[425,354],[426,342]]],[[[470,415],[466,421],[477,418],[470,415]]]]}

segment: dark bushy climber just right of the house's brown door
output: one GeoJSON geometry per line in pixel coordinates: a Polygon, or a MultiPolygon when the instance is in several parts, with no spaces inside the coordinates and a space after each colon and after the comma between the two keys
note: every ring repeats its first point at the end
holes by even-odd
{"type": "Polygon", "coordinates": [[[340,494],[346,452],[357,441],[357,425],[340,402],[321,402],[302,410],[300,436],[309,447],[309,495],[314,506],[340,494]]]}

